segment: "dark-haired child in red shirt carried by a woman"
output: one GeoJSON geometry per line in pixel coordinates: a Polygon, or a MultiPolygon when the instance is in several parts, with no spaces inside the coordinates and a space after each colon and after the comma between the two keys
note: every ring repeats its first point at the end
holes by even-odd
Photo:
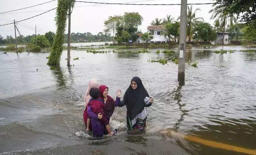
{"type": "MultiPolygon", "coordinates": [[[[113,132],[111,132],[111,130],[110,130],[109,122],[107,120],[107,117],[103,113],[103,107],[105,107],[106,103],[103,102],[103,100],[101,100],[100,98],[98,98],[99,89],[91,88],[89,94],[92,98],[89,101],[88,106],[91,106],[91,108],[92,108],[92,110],[95,114],[98,115],[99,113],[101,113],[102,119],[100,119],[100,120],[101,120],[102,123],[104,123],[104,125],[106,125],[106,129],[109,132],[109,135],[112,135],[113,132]]],[[[90,123],[91,123],[91,117],[88,116],[86,130],[89,130],[90,123]]]]}

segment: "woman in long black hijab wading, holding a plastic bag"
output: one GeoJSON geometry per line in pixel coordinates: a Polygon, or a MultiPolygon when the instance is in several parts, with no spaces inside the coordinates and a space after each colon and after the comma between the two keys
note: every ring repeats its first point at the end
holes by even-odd
{"type": "Polygon", "coordinates": [[[119,107],[126,106],[126,121],[129,129],[141,129],[146,127],[147,111],[145,107],[151,106],[154,99],[149,96],[140,77],[133,77],[131,85],[124,94],[124,99],[119,107]]]}

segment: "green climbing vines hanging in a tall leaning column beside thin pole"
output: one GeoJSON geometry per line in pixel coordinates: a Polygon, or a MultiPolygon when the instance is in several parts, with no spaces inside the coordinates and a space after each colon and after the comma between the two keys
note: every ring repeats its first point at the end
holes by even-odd
{"type": "Polygon", "coordinates": [[[48,65],[60,63],[60,57],[62,55],[63,50],[64,33],[66,30],[66,21],[68,17],[68,10],[70,7],[74,8],[74,4],[74,0],[58,0],[58,7],[56,10],[55,17],[57,31],[52,44],[52,52],[50,53],[48,59],[48,65]]]}

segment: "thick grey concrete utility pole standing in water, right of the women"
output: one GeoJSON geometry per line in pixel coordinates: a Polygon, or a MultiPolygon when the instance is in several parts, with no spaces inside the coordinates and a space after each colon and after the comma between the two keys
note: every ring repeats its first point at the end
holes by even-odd
{"type": "Polygon", "coordinates": [[[186,20],[187,20],[187,0],[181,0],[180,6],[180,50],[178,58],[178,81],[185,80],[186,61],[186,20]]]}

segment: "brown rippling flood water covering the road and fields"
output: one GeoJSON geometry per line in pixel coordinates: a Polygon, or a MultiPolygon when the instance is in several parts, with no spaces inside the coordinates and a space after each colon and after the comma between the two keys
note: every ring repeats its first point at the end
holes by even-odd
{"type": "Polygon", "coordinates": [[[186,60],[199,63],[197,68],[186,64],[181,83],[178,65],[171,62],[177,53],[71,51],[72,67],[67,67],[63,51],[60,66],[50,70],[50,53],[0,52],[0,153],[256,155],[256,53],[239,51],[245,47],[224,47],[236,50],[224,55],[211,52],[221,48],[188,51],[186,60]],[[160,57],[170,59],[168,64],[147,62],[160,57]],[[115,98],[118,89],[124,95],[134,76],[155,98],[145,131],[127,132],[126,108],[117,107],[110,121],[119,130],[116,136],[96,139],[85,132],[89,80],[107,85],[115,98]]]}

